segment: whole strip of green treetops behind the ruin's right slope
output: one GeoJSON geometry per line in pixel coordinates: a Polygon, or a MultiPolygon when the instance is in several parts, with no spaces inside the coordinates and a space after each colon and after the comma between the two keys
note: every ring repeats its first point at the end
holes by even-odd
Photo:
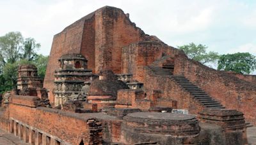
{"type": "Polygon", "coordinates": [[[217,52],[207,53],[207,46],[201,44],[195,45],[195,43],[178,46],[178,48],[183,50],[189,59],[196,60],[201,64],[217,64],[217,69],[220,71],[250,74],[256,70],[256,57],[248,52],[218,55],[217,52]]]}

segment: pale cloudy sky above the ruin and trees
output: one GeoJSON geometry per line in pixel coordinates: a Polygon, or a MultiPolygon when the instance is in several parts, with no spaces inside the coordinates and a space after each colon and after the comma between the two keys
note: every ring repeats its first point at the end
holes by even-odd
{"type": "Polygon", "coordinates": [[[103,6],[130,14],[145,33],[170,46],[191,42],[218,53],[250,52],[256,55],[256,1],[171,0],[0,0],[0,36],[20,31],[41,43],[49,55],[54,34],[103,6]]]}

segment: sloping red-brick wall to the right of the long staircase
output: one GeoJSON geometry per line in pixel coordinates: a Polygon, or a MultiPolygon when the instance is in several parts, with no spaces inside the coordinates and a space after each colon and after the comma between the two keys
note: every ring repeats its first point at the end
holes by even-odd
{"type": "Polygon", "coordinates": [[[175,57],[174,74],[186,76],[223,106],[243,112],[247,121],[256,124],[255,84],[189,60],[185,55],[175,57]]]}

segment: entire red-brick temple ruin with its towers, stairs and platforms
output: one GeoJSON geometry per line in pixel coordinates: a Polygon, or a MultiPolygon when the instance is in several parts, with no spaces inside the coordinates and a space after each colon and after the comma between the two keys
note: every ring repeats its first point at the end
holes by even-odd
{"type": "Polygon", "coordinates": [[[19,67],[0,128],[29,144],[248,144],[255,80],[190,60],[105,6],[54,36],[44,86],[19,67]]]}

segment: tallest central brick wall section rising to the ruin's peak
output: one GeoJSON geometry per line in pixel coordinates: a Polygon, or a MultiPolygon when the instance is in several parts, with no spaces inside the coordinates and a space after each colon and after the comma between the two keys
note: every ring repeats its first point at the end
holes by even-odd
{"type": "Polygon", "coordinates": [[[120,73],[122,47],[150,37],[117,8],[97,10],[95,20],[95,72],[106,68],[120,73]]]}

